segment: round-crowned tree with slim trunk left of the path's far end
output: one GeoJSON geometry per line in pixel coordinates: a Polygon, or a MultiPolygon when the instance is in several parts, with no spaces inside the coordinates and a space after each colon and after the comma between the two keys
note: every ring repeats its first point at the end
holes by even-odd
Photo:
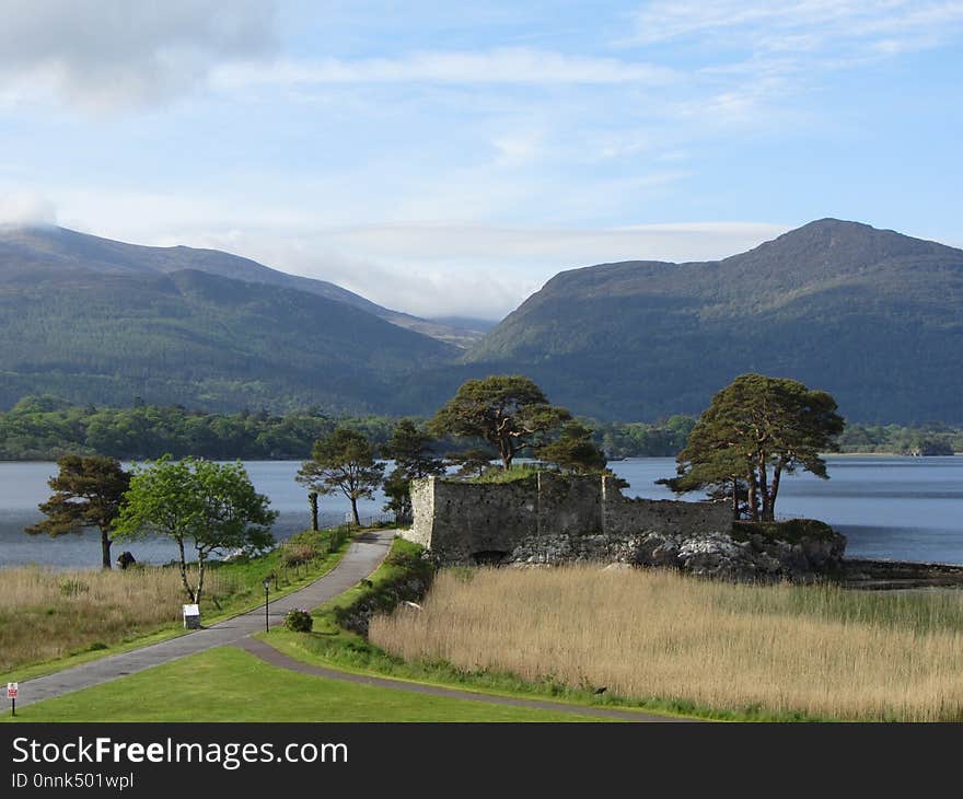
{"type": "Polygon", "coordinates": [[[351,502],[355,524],[361,524],[358,500],[372,499],[384,477],[384,464],[374,460],[371,441],[364,433],[339,426],[315,441],[311,454],[295,479],[318,494],[344,494],[351,502]]]}

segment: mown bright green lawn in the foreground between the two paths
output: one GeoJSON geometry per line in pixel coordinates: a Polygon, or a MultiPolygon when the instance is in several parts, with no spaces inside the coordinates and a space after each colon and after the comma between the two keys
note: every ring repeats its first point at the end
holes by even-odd
{"type": "MultiPolygon", "coordinates": [[[[0,721],[600,721],[358,685],[219,647],[10,711],[0,721]]],[[[607,720],[607,719],[605,719],[607,720]]]]}

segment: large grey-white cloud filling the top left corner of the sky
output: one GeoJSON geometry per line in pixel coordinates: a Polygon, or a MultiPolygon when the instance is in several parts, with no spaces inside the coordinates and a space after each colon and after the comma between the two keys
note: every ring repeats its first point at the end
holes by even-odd
{"type": "Polygon", "coordinates": [[[89,111],[164,102],[220,61],[275,48],[260,0],[0,0],[0,20],[2,95],[89,111]]]}

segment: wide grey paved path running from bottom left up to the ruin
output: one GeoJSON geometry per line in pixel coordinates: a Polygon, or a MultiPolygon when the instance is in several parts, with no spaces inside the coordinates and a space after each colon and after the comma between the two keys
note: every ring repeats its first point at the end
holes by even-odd
{"type": "MultiPolygon", "coordinates": [[[[280,624],[285,614],[292,607],[317,607],[333,597],[347,591],[362,578],[368,577],[384,559],[394,534],[394,530],[374,530],[356,536],[340,563],[328,574],[310,586],[269,603],[270,624],[280,624]]],[[[228,618],[177,638],[134,649],[129,652],[111,655],[54,674],[22,682],[16,704],[24,707],[40,699],[49,699],[91,685],[100,685],[211,647],[236,644],[252,633],[259,633],[264,627],[264,605],[262,605],[250,613],[243,613],[240,616],[228,618]]]]}

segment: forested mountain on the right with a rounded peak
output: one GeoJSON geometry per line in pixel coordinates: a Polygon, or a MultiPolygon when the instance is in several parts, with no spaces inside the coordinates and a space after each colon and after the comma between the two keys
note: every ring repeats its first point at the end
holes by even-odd
{"type": "Polygon", "coordinates": [[[963,421],[963,251],[837,220],[720,262],[561,273],[471,352],[603,419],[698,413],[745,372],[860,421],[963,421]]]}

